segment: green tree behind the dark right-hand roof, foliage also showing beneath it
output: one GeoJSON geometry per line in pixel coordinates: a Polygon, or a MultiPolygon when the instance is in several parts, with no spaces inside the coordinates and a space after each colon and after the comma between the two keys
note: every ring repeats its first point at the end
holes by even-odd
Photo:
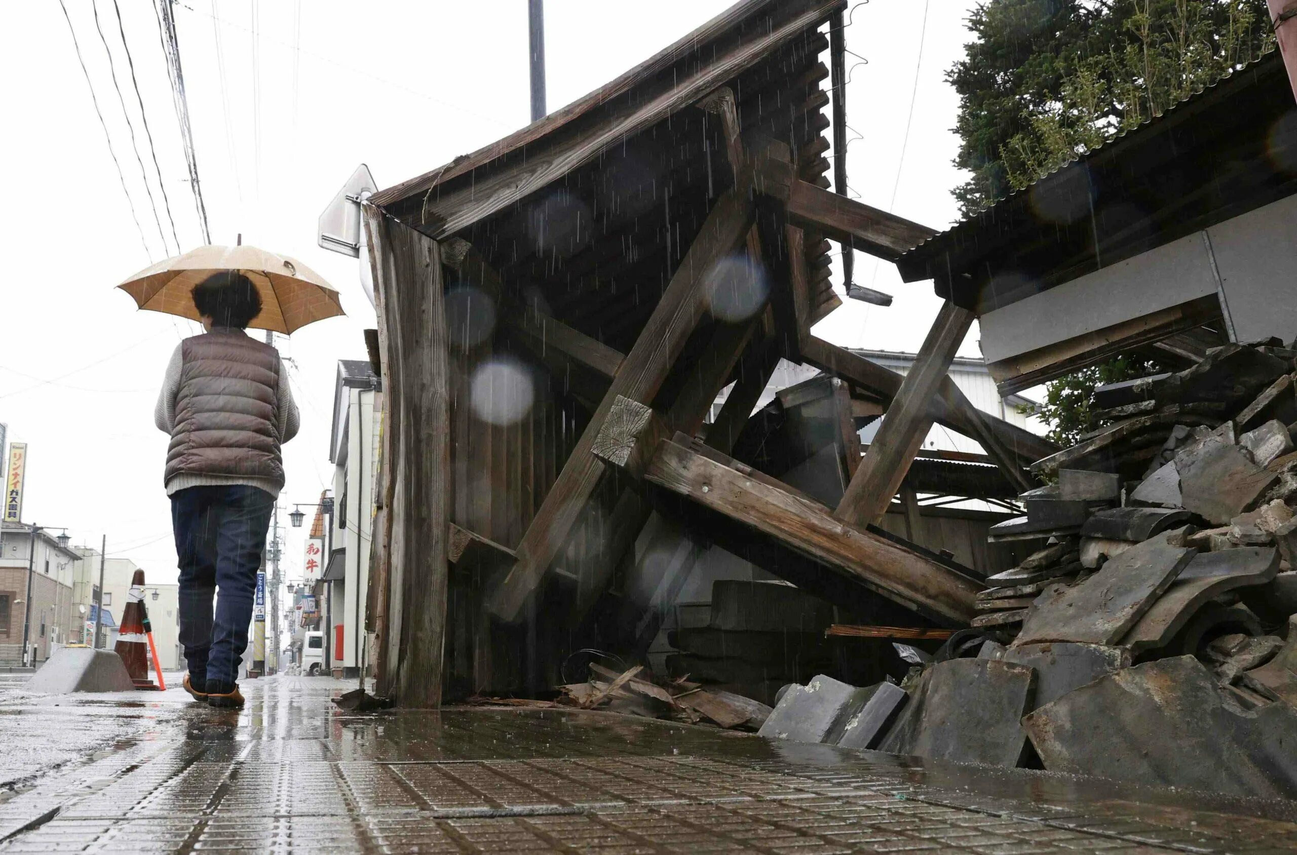
{"type": "MultiPolygon", "coordinates": [[[[947,73],[960,93],[955,189],[973,214],[1270,51],[1266,0],[986,0],[947,73]]],[[[1130,354],[1047,384],[1051,439],[1087,429],[1096,385],[1158,370],[1130,354]]]]}

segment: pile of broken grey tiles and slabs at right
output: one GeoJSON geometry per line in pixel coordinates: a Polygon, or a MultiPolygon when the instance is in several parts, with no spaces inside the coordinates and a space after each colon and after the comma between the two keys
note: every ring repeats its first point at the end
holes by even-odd
{"type": "Polygon", "coordinates": [[[1297,797],[1294,368],[1231,344],[1096,389],[1106,424],[991,529],[1045,542],[990,577],[974,629],[903,686],[795,686],[761,733],[1297,797]]]}

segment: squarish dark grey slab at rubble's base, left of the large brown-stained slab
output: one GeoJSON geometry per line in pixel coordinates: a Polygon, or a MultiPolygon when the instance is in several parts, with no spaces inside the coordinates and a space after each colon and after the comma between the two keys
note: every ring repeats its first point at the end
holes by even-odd
{"type": "Polygon", "coordinates": [[[1026,733],[1018,720],[1035,692],[1031,668],[992,659],[948,659],[927,668],[878,746],[956,763],[1014,767],[1026,733]]]}

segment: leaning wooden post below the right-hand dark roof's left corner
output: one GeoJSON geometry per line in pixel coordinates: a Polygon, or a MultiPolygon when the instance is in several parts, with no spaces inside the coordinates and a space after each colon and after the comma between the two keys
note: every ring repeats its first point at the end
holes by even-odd
{"type": "Polygon", "coordinates": [[[834,511],[838,518],[856,525],[882,522],[914,453],[933,427],[933,398],[971,324],[973,313],[968,309],[949,301],[942,305],[918,358],[887,407],[869,453],[834,511]]]}

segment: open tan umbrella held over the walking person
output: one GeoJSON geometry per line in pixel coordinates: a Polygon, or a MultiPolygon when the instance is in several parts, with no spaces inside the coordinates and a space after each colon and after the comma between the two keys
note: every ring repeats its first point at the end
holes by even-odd
{"type": "Polygon", "coordinates": [[[237,270],[257,285],[262,309],[248,326],[285,335],[314,320],[345,314],[337,289],[318,272],[288,256],[256,247],[198,247],[160,261],[118,285],[140,309],[198,320],[189,292],[224,270],[237,270]]]}

